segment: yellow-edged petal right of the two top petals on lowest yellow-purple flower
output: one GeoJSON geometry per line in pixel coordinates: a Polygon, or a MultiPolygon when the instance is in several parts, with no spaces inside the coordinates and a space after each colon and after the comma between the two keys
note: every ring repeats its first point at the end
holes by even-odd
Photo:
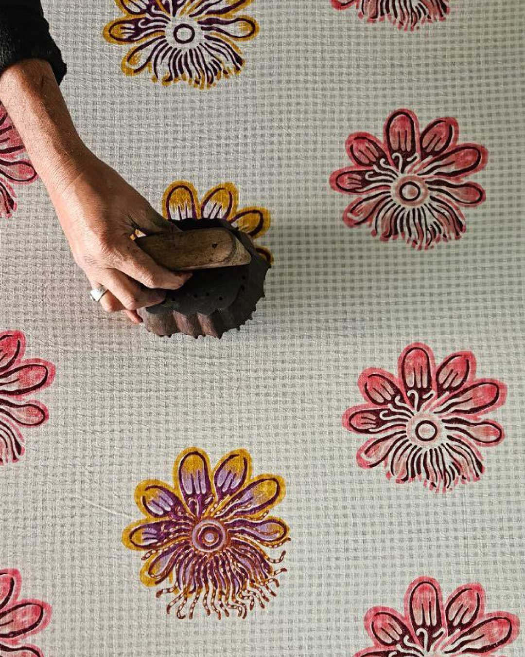
{"type": "Polygon", "coordinates": [[[215,517],[255,516],[278,504],[284,493],[284,480],[281,477],[261,474],[226,501],[215,517]]]}

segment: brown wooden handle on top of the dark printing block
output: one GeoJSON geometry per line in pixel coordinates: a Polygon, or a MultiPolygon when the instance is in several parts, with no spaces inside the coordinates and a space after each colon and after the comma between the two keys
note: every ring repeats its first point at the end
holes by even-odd
{"type": "Polygon", "coordinates": [[[173,231],[137,237],[138,246],[172,271],[247,265],[251,255],[225,228],[173,231]]]}

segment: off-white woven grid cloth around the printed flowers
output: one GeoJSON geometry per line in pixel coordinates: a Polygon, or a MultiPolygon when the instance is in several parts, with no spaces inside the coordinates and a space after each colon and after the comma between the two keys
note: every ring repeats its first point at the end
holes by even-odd
{"type": "MultiPolygon", "coordinates": [[[[0,472],[0,551],[53,605],[44,654],[347,657],[369,645],[366,611],[401,609],[421,575],[446,595],[479,581],[489,611],[524,621],[524,3],[452,0],[447,20],[410,34],[329,0],[255,0],[261,32],[242,74],[209,91],[126,78],[125,49],[102,37],[112,0],[43,4],[68,62],[62,91],[96,154],[157,209],[175,179],[201,193],[234,181],[241,204],[271,210],[275,256],[240,332],[162,340],[89,301],[43,186],[20,191],[0,226],[0,328],[23,330],[57,376],[40,396],[49,422],[0,472]],[[400,107],[421,124],[454,116],[461,141],[490,157],[467,233],[427,252],[345,227],[348,199],[328,185],[349,164],[348,135],[380,136],[400,107]],[[358,375],[394,372],[414,340],[438,360],[472,350],[478,375],[509,388],[491,416],[505,441],[486,450],[479,482],[447,495],[358,468],[363,441],[341,426],[362,402],[358,375]],[[135,486],[169,481],[191,445],[213,463],[243,447],[255,474],[287,484],[288,572],[244,621],[167,616],[121,544],[140,517],[135,486]]],[[[524,637],[504,653],[522,654],[524,637]]]]}

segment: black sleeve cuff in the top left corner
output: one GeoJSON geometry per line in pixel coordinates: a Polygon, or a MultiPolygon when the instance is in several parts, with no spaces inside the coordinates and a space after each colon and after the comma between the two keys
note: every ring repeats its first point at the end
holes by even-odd
{"type": "Polygon", "coordinates": [[[0,0],[0,74],[22,59],[45,59],[58,83],[66,64],[49,34],[40,0],[0,0]]]}

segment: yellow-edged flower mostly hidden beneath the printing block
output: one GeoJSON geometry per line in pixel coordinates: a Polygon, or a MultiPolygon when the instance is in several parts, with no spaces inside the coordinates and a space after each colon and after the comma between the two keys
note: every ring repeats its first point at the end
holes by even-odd
{"type": "MultiPolygon", "coordinates": [[[[264,208],[239,209],[239,192],[233,183],[222,183],[204,194],[199,194],[192,183],[177,180],[167,188],[162,199],[162,213],[170,221],[180,219],[224,219],[252,239],[264,235],[270,228],[270,212],[264,208]]],[[[256,247],[257,253],[273,261],[270,250],[256,247]]]]}

